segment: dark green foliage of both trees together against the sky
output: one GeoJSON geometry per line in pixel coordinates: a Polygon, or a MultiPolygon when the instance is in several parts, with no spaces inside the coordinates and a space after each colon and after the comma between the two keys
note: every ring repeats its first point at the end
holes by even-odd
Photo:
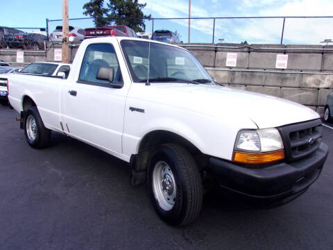
{"type": "Polygon", "coordinates": [[[136,32],[143,32],[146,29],[144,19],[151,18],[151,15],[142,12],[146,3],[139,3],[138,0],[109,0],[107,8],[103,7],[103,3],[104,0],[90,0],[83,6],[84,15],[97,17],[97,26],[123,24],[136,32]]]}

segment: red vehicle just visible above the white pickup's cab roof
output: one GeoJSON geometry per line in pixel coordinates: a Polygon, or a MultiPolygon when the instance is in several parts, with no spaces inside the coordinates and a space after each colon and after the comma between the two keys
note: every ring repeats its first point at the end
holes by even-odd
{"type": "Polygon", "coordinates": [[[101,28],[85,28],[85,38],[94,38],[98,36],[127,36],[137,38],[137,33],[126,25],[104,26],[101,28]]]}

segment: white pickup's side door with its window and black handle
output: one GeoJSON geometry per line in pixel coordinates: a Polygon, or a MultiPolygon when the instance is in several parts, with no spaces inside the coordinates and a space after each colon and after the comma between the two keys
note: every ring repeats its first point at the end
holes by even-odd
{"type": "Polygon", "coordinates": [[[89,44],[78,81],[71,81],[62,90],[63,130],[105,151],[122,153],[123,115],[129,84],[113,88],[110,82],[96,79],[99,67],[113,67],[112,82],[123,81],[112,43],[89,44]]]}

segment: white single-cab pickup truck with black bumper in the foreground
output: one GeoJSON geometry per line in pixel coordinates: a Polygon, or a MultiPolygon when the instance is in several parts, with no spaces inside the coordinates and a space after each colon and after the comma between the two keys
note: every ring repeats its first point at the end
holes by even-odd
{"type": "Polygon", "coordinates": [[[80,44],[67,79],[8,77],[31,147],[58,131],[130,163],[164,221],[187,224],[203,189],[282,204],[321,173],[321,119],[298,103],[217,85],[189,51],[137,38],[80,44]]]}

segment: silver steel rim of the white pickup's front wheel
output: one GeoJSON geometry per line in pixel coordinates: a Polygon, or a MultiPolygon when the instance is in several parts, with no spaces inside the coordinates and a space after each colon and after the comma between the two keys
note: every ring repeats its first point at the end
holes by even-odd
{"type": "Polygon", "coordinates": [[[176,202],[176,182],[167,163],[156,163],[153,170],[153,192],[158,204],[164,210],[171,210],[176,202]]]}

